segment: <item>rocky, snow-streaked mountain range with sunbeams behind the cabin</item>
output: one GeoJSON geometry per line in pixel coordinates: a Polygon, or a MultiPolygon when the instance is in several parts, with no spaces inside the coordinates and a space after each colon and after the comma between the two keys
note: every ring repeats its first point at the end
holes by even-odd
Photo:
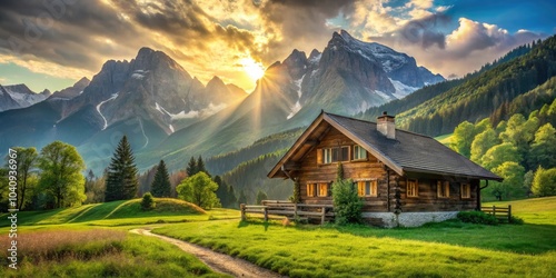
{"type": "Polygon", "coordinates": [[[99,173],[128,135],[142,169],[160,158],[181,168],[190,156],[234,151],[306,126],[321,109],[355,115],[443,80],[414,58],[346,31],[335,32],[322,51],[294,50],[275,62],[251,93],[218,77],[203,85],[166,53],[142,48],[51,95],[0,87],[0,148],[62,140],[99,173]]]}

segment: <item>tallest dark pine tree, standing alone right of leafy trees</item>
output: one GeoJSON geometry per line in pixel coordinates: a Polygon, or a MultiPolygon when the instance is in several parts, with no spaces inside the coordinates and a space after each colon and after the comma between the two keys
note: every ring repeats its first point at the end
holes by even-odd
{"type": "Polygon", "coordinates": [[[128,200],[137,195],[137,167],[128,138],[123,136],[108,166],[105,201],[128,200]]]}

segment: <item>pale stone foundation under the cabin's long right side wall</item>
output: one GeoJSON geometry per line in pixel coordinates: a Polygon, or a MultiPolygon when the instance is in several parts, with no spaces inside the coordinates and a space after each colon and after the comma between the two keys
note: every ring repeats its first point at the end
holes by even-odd
{"type": "Polygon", "coordinates": [[[363,218],[373,226],[385,228],[419,227],[427,222],[441,222],[456,218],[458,212],[459,211],[401,212],[398,216],[394,212],[363,212],[363,218]]]}

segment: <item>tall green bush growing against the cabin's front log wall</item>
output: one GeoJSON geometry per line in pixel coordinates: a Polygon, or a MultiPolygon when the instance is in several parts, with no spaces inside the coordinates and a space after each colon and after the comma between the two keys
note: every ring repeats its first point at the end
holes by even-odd
{"type": "Polygon", "coordinates": [[[334,212],[336,224],[360,224],[363,201],[351,180],[338,180],[332,183],[334,212]]]}

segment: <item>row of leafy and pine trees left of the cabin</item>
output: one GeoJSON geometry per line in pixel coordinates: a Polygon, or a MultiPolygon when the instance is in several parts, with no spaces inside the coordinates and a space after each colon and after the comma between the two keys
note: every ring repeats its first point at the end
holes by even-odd
{"type": "MultiPolygon", "coordinates": [[[[160,162],[143,175],[138,173],[135,156],[127,137],[119,141],[109,166],[100,177],[89,170],[76,147],[54,141],[40,152],[36,148],[17,147],[17,183],[20,210],[40,210],[80,206],[103,201],[128,200],[152,195],[160,198],[180,198],[201,208],[237,208],[247,202],[245,193],[236,196],[234,187],[220,176],[211,177],[202,157],[191,157],[186,169],[170,175],[166,162],[160,162]],[[140,182],[148,180],[149,185],[140,182]],[[172,186],[173,183],[173,186],[172,186]]],[[[9,168],[0,168],[0,208],[8,209],[9,168]]],[[[260,192],[259,198],[266,199],[260,192]]]]}

